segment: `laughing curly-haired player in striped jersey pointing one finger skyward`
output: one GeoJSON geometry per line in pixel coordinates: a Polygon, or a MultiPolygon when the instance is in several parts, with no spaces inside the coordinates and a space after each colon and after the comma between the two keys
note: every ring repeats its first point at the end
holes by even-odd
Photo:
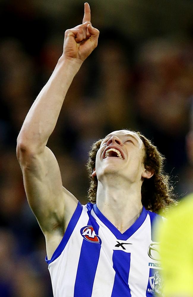
{"type": "Polygon", "coordinates": [[[159,215],[151,211],[173,202],[162,156],[140,133],[110,133],[94,144],[88,162],[89,199],[97,203],[82,206],[62,186],[46,147],[75,74],[97,46],[90,20],[85,3],[83,24],[65,32],[62,56],[26,116],[17,156],[45,235],[54,297],[152,296],[162,282],[151,232],[159,215]]]}

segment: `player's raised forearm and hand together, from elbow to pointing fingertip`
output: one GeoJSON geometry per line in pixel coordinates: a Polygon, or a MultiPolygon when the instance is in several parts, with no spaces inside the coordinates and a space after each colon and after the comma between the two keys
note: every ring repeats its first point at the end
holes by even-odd
{"type": "Polygon", "coordinates": [[[99,30],[91,25],[89,4],[84,7],[83,24],[65,31],[63,54],[26,116],[18,136],[17,154],[44,151],[74,76],[97,46],[99,30]]]}

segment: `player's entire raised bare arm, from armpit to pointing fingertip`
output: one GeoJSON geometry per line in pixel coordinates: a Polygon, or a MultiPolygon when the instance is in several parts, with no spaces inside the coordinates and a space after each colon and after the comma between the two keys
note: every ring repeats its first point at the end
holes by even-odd
{"type": "Polygon", "coordinates": [[[65,32],[58,63],[31,106],[17,141],[17,157],[27,199],[46,238],[50,257],[77,206],[77,199],[61,181],[58,162],[46,147],[56,125],[67,90],[83,61],[96,48],[99,31],[91,25],[88,3],[83,24],[65,32]]]}

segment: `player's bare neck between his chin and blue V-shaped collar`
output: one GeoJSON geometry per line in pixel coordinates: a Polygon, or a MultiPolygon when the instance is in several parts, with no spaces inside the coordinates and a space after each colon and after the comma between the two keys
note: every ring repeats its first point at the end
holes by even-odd
{"type": "Polygon", "coordinates": [[[122,183],[114,179],[109,183],[98,181],[97,207],[123,233],[142,211],[141,183],[122,183]]]}

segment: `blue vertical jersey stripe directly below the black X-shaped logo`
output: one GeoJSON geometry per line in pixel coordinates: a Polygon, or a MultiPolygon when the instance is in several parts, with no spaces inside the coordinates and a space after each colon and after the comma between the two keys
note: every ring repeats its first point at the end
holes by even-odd
{"type": "Polygon", "coordinates": [[[116,273],[111,297],[131,297],[128,285],[130,257],[130,253],[113,251],[113,268],[116,273]]]}

